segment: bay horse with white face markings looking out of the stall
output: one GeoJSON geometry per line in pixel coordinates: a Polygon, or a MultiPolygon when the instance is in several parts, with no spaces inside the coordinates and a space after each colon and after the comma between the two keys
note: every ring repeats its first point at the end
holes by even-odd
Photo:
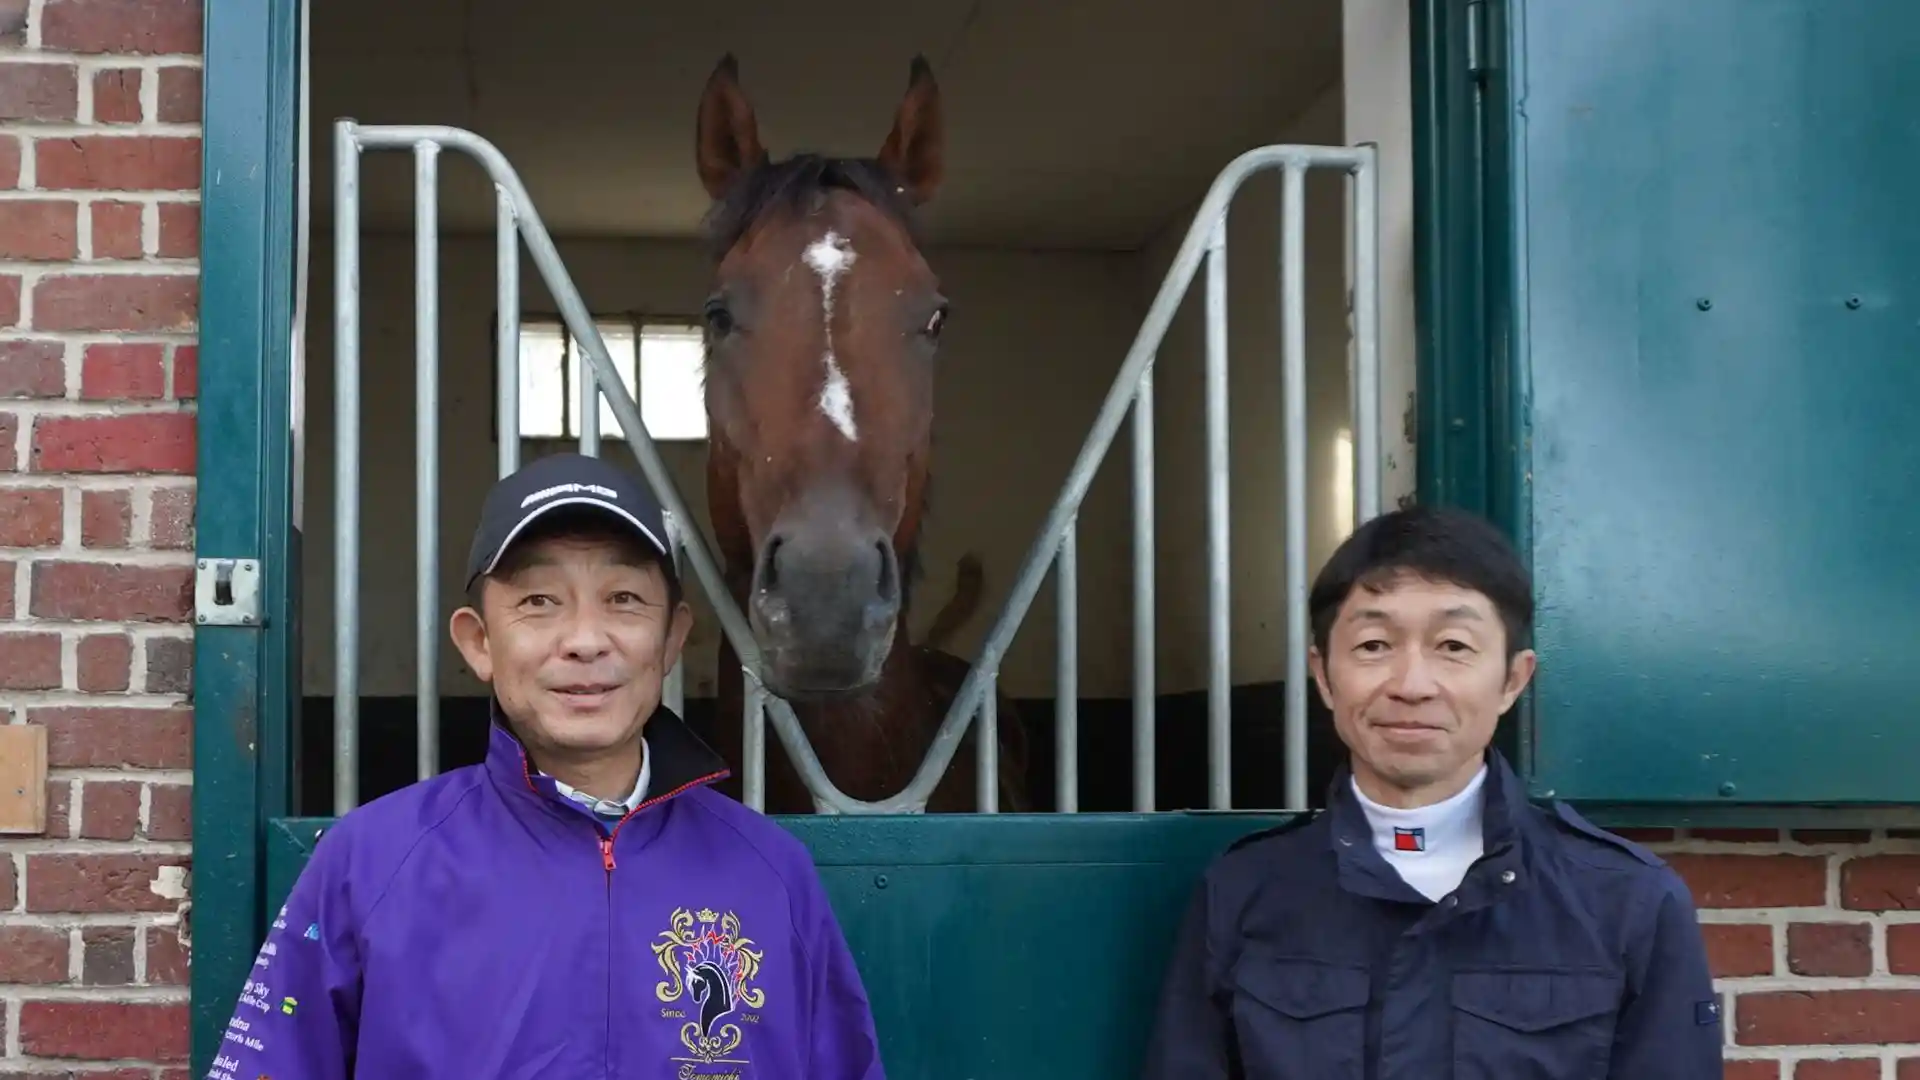
{"type": "MultiPolygon", "coordinates": [[[[916,208],[943,173],[939,88],[914,58],[876,158],[770,161],[732,54],[707,81],[697,167],[712,198],[705,306],[707,509],[766,688],[856,799],[920,769],[968,663],[908,640],[947,298],[916,208]]],[[[722,636],[716,742],[739,798],[743,676],[722,636]]],[[[998,698],[1000,809],[1027,809],[1027,742],[998,698]]],[[[975,811],[968,728],[927,801],[975,811]]],[[[768,721],[766,813],[814,803],[768,721]]]]}

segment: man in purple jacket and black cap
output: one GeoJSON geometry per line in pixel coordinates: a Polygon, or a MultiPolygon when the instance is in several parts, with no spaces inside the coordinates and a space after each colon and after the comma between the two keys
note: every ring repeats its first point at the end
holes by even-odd
{"type": "Polygon", "coordinates": [[[488,496],[451,634],[482,765],[313,851],[213,1080],[883,1080],[806,849],[660,705],[687,640],[651,492],[576,454],[488,496]]]}

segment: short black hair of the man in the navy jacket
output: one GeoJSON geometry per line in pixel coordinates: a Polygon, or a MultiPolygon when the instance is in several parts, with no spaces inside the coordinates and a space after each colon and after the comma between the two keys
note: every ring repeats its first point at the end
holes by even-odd
{"type": "Polygon", "coordinates": [[[1490,521],[1455,507],[1411,505],[1354,530],[1327,559],[1308,594],[1313,646],[1325,653],[1334,617],[1354,588],[1380,590],[1400,575],[1486,596],[1507,630],[1507,655],[1534,628],[1534,586],[1513,544],[1490,521]]]}

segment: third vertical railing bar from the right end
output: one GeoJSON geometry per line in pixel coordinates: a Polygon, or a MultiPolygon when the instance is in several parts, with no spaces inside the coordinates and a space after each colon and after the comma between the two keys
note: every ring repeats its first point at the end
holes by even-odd
{"type": "Polygon", "coordinates": [[[1208,805],[1233,805],[1233,623],[1227,590],[1227,211],[1206,254],[1206,592],[1208,592],[1208,805]]]}

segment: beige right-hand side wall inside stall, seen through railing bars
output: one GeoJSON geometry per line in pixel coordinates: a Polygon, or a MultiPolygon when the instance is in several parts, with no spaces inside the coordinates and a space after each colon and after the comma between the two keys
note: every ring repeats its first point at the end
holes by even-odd
{"type": "MultiPolygon", "coordinates": [[[[1340,144],[1342,98],[1321,94],[1275,142],[1340,144]]],[[[1225,165],[1225,163],[1223,163],[1225,165]]],[[[1306,184],[1308,575],[1338,544],[1336,432],[1346,396],[1346,181],[1313,171],[1306,184]]],[[[1160,288],[1192,225],[1198,198],[1150,246],[1142,304],[1160,288]]],[[[1281,398],[1281,173],[1256,173],[1227,213],[1227,432],[1233,682],[1286,675],[1284,455],[1281,398]]],[[[1158,680],[1164,692],[1206,686],[1206,269],[1196,275],[1156,361],[1158,680]]]]}

